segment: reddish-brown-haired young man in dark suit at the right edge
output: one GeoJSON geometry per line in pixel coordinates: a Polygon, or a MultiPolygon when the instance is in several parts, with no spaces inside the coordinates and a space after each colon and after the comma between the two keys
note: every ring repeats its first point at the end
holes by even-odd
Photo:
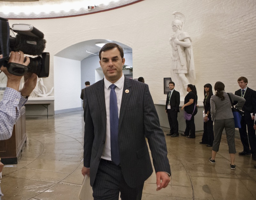
{"type": "MultiPolygon", "coordinates": [[[[256,113],[256,91],[247,87],[248,80],[243,76],[240,77],[237,82],[241,89],[237,90],[235,92],[235,95],[241,96],[246,100],[242,108],[242,110],[244,111],[244,115],[241,119],[241,128],[239,128],[240,138],[244,146],[244,150],[242,152],[239,152],[239,155],[251,155],[252,153],[252,159],[256,160],[256,137],[255,130],[253,129],[254,115],[256,113]],[[248,130],[248,136],[246,126],[248,130]],[[249,143],[251,150],[249,147],[249,143]]],[[[234,102],[234,104],[236,103],[237,102],[234,102]]]]}

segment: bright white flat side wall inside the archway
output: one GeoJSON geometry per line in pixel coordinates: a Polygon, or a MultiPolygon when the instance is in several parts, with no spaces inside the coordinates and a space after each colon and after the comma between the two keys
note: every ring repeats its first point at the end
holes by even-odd
{"type": "Polygon", "coordinates": [[[81,62],[54,57],[54,110],[81,107],[81,62]]]}

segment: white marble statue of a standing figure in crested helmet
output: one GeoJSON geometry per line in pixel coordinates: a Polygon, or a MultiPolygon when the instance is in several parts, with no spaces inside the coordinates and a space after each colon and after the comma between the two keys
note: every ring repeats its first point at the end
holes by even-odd
{"type": "Polygon", "coordinates": [[[183,31],[185,16],[181,12],[173,12],[172,30],[170,38],[172,45],[172,70],[180,90],[180,95],[187,94],[188,84],[193,84],[196,79],[195,65],[192,50],[192,40],[187,32],[183,31]]]}

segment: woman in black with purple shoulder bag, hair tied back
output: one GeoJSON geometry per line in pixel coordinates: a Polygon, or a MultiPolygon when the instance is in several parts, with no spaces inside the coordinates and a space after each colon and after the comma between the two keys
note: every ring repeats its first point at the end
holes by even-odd
{"type": "Polygon", "coordinates": [[[197,113],[197,93],[196,86],[192,84],[188,84],[187,87],[188,94],[185,96],[184,105],[181,107],[181,110],[185,110],[188,114],[192,114],[191,120],[186,119],[186,130],[183,134],[188,138],[196,137],[196,127],[194,122],[194,116],[197,113]],[[190,132],[190,135],[189,135],[190,132]]]}

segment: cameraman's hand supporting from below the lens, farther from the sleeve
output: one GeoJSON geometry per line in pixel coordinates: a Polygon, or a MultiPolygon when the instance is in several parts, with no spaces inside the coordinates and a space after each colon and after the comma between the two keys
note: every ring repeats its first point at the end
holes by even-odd
{"type": "Polygon", "coordinates": [[[35,89],[37,83],[36,73],[28,72],[24,75],[24,86],[20,90],[22,96],[29,96],[30,93],[35,89]]]}

